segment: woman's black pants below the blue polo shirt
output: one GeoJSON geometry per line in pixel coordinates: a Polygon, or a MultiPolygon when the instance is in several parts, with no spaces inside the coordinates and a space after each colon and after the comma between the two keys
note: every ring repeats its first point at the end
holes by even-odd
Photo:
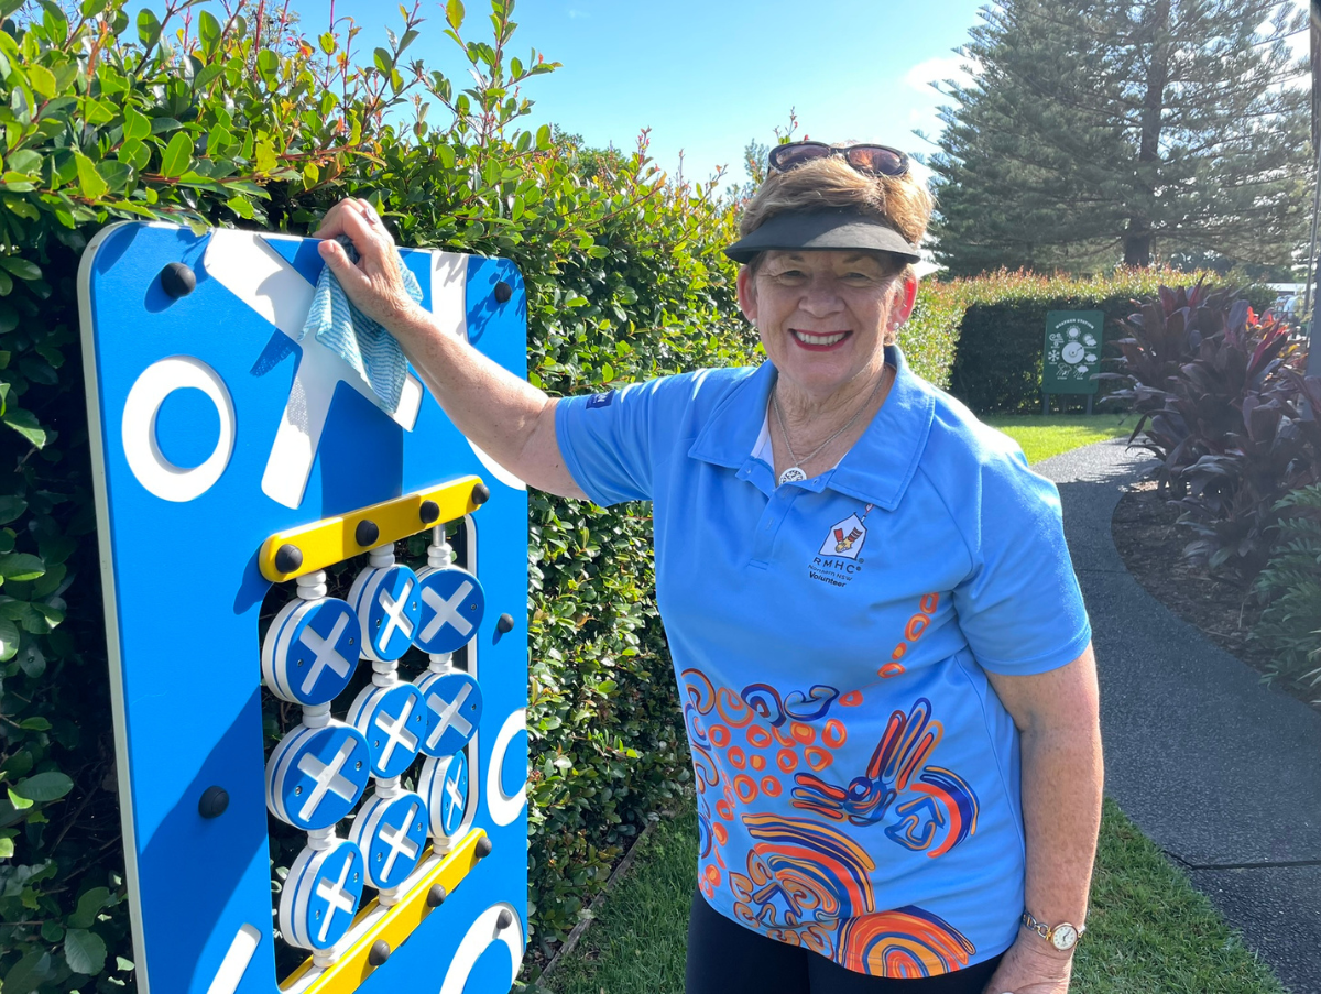
{"type": "Polygon", "coordinates": [[[982,994],[1003,956],[939,977],[867,977],[744,928],[695,891],[684,986],[687,994],[982,994]]]}

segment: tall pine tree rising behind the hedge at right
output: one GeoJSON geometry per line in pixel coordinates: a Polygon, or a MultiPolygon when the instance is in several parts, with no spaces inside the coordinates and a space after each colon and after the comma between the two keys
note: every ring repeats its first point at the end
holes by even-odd
{"type": "Polygon", "coordinates": [[[1285,0],[1001,0],[947,83],[937,258],[1288,266],[1313,156],[1306,13],[1285,0]]]}

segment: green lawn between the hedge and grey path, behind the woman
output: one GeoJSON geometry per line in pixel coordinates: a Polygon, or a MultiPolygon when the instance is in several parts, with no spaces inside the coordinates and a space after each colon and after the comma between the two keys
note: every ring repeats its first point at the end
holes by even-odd
{"type": "MultiPolygon", "coordinates": [[[[1127,436],[1132,419],[1050,415],[983,419],[1012,436],[1029,463],[1127,436]]],[[[638,845],[629,875],[556,968],[544,994],[682,994],[688,905],[697,866],[697,816],[663,818],[638,845]]],[[[1078,946],[1078,994],[1284,994],[1205,895],[1110,800],[1078,946]]]]}

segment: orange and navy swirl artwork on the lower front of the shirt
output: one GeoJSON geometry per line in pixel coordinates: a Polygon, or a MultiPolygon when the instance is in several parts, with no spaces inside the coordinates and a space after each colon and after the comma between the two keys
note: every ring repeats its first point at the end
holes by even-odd
{"type": "Polygon", "coordinates": [[[976,833],[976,794],[933,763],[943,728],[930,701],[892,711],[855,771],[840,761],[856,753],[845,748],[851,714],[869,716],[855,710],[864,690],[736,691],[686,669],[680,691],[708,900],[732,898],[744,925],[860,973],[931,977],[968,965],[976,948],[955,925],[921,907],[877,907],[877,862],[890,855],[859,841],[860,829],[882,826],[886,845],[935,859],[976,833]]]}

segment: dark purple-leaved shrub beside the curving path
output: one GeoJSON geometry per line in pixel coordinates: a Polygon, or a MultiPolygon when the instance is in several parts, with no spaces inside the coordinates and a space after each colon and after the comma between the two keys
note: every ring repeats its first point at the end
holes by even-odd
{"type": "Polygon", "coordinates": [[[1115,397],[1140,415],[1132,438],[1160,460],[1157,480],[1194,533],[1185,555],[1255,576],[1280,500],[1321,471],[1321,427],[1300,403],[1316,381],[1300,375],[1299,344],[1285,323],[1201,283],[1161,287],[1122,326],[1122,373],[1107,375],[1131,385],[1115,397]]]}

